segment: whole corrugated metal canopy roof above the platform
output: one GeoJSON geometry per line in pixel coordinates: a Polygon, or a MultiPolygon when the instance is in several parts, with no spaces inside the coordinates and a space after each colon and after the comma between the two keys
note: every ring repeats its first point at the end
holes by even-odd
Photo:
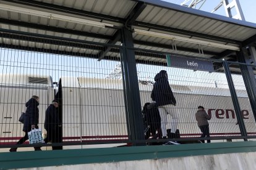
{"type": "MultiPolygon", "coordinates": [[[[54,14],[66,15],[69,17],[83,18],[85,20],[92,20],[102,23],[111,23],[114,26],[123,26],[129,14],[132,12],[138,2],[145,2],[147,6],[142,10],[139,17],[136,18],[133,28],[139,28],[141,30],[154,31],[156,33],[171,34],[174,36],[181,36],[184,38],[200,39],[203,41],[218,42],[219,44],[239,46],[237,44],[240,41],[245,41],[256,34],[256,24],[235,20],[216,14],[210,14],[200,10],[189,9],[187,7],[178,6],[169,2],[163,2],[159,0],[142,0],[142,1],[130,1],[130,0],[33,0],[33,1],[1,1],[1,3],[9,4],[17,7],[24,7],[26,9],[36,9],[43,12],[53,12],[54,14]],[[37,5],[36,5],[36,3],[37,5]],[[40,3],[46,3],[44,6],[40,6],[40,3]],[[28,6],[29,3],[35,3],[35,6],[28,6]],[[38,5],[39,4],[39,5],[38,5]],[[59,10],[54,10],[59,7],[59,10]],[[69,12],[68,9],[75,9],[79,12],[77,14],[74,11],[69,12]],[[81,12],[82,11],[82,12],[81,12]],[[92,15],[83,15],[83,12],[91,12],[92,15]],[[95,15],[95,16],[94,16],[95,15]],[[104,15],[102,18],[96,15],[104,15]],[[106,17],[117,19],[108,20],[106,17]],[[120,19],[120,20],[119,20],[120,19]],[[167,29],[169,28],[169,29],[167,29]],[[223,39],[227,39],[230,42],[226,42],[223,39]],[[236,45],[237,44],[237,45],[236,45]]],[[[33,26],[26,28],[25,25],[15,25],[14,23],[0,22],[0,28],[24,31],[27,33],[46,34],[51,36],[58,36],[61,38],[81,39],[92,42],[108,42],[108,39],[103,36],[114,36],[116,28],[100,28],[97,26],[90,26],[82,23],[68,22],[64,20],[57,20],[56,18],[46,18],[35,15],[22,14],[21,12],[0,10],[1,18],[7,20],[19,21],[24,23],[38,24],[42,26],[51,26],[51,28],[62,28],[65,30],[80,31],[80,33],[87,33],[86,35],[75,34],[74,32],[61,32],[54,30],[47,30],[47,28],[33,28],[33,26]],[[88,36],[89,33],[89,36],[88,36]],[[102,35],[97,38],[90,37],[90,33],[102,35]]],[[[35,27],[35,26],[34,26],[35,27]]],[[[200,46],[200,49],[205,51],[205,54],[200,54],[198,50],[198,44],[191,42],[175,41],[177,51],[173,49],[173,42],[169,39],[156,38],[149,35],[133,34],[135,41],[135,47],[142,49],[149,49],[160,52],[172,52],[181,55],[192,55],[195,57],[210,58],[215,54],[220,54],[225,51],[219,47],[200,46]],[[140,41],[140,43],[138,43],[140,41]],[[144,43],[141,43],[144,42],[144,43]],[[147,44],[147,42],[165,45],[153,46],[147,44]],[[169,46],[169,47],[168,47],[169,46]],[[191,49],[191,51],[186,51],[191,49]],[[197,52],[198,51],[198,52],[197,52]],[[208,52],[208,53],[207,53],[208,52]]],[[[4,42],[4,41],[2,41],[4,42]]],[[[15,41],[12,41],[15,42],[15,41]]],[[[15,45],[26,44],[20,40],[15,42],[15,45]]],[[[35,43],[36,44],[36,43],[35,43]]],[[[119,42],[117,44],[120,44],[119,42]]],[[[46,46],[45,46],[46,47],[46,46]]],[[[57,46],[52,46],[56,47],[57,46]]],[[[74,49],[74,48],[73,48],[74,49]]],[[[109,53],[108,53],[109,54],[109,53]]],[[[113,55],[113,54],[111,54],[113,55]]],[[[142,56],[137,56],[141,58],[142,56]]],[[[141,58],[142,59],[142,58],[141,58]]],[[[160,59],[161,60],[161,59],[160,59]]]]}

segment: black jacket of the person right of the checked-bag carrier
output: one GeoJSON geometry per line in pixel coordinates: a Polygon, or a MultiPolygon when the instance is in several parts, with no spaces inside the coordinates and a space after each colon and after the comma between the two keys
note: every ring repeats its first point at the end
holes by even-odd
{"type": "Polygon", "coordinates": [[[49,105],[45,112],[45,129],[54,129],[61,125],[61,120],[59,119],[59,109],[54,107],[53,104],[49,105]]]}

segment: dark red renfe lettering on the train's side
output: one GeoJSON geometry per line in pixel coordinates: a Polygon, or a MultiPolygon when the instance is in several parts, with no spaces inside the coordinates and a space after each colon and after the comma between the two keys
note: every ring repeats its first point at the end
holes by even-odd
{"type": "MultiPolygon", "coordinates": [[[[230,116],[233,119],[236,118],[236,114],[234,113],[234,110],[232,110],[232,109],[224,110],[224,109],[210,108],[210,109],[208,109],[208,115],[211,116],[211,113],[214,114],[213,111],[215,111],[216,118],[218,118],[218,119],[224,119],[225,117],[227,119],[229,119],[230,116]]],[[[249,111],[248,110],[242,110],[241,115],[242,115],[243,119],[249,119],[249,111]]]]}

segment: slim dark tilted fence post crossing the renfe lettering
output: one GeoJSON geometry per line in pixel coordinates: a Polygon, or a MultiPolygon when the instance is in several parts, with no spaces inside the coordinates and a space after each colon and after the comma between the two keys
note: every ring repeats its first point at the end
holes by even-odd
{"type": "Polygon", "coordinates": [[[247,132],[245,129],[244,120],[242,119],[241,108],[240,108],[239,101],[238,101],[238,98],[236,95],[236,89],[234,88],[234,83],[233,83],[233,79],[232,79],[232,76],[231,76],[231,73],[229,70],[228,62],[224,61],[223,67],[224,67],[225,75],[226,75],[226,78],[228,81],[229,91],[230,91],[232,102],[234,105],[234,110],[236,112],[237,123],[239,124],[239,129],[240,129],[242,137],[244,137],[244,141],[247,141],[247,132]]]}

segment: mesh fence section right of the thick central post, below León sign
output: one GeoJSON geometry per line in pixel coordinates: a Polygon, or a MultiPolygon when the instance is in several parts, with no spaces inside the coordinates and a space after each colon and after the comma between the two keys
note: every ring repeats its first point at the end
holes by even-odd
{"type": "MultiPolygon", "coordinates": [[[[137,71],[142,110],[145,110],[145,107],[143,108],[145,103],[157,103],[157,101],[154,100],[161,102],[155,113],[150,113],[151,115],[156,115],[154,118],[151,118],[150,121],[153,123],[151,126],[158,126],[156,129],[160,129],[162,134],[157,135],[160,131],[153,128],[153,132],[148,132],[152,138],[160,138],[162,135],[176,140],[188,140],[189,138],[201,137],[202,132],[198,126],[202,125],[202,123],[198,122],[195,116],[195,113],[198,111],[198,106],[203,106],[207,115],[211,116],[211,119],[208,120],[211,138],[221,139],[227,137],[228,139],[228,137],[241,136],[239,126],[236,124],[237,119],[228,87],[228,81],[221,62],[205,60],[213,64],[214,71],[208,71],[207,69],[193,70],[187,69],[187,63],[184,64],[182,62],[179,63],[180,65],[176,65],[176,67],[167,67],[166,62],[162,62],[161,64],[161,61],[165,57],[163,54],[152,53],[151,56],[152,59],[149,59],[148,63],[137,64],[137,71]],[[176,106],[168,105],[171,103],[172,99],[166,97],[166,95],[171,94],[170,92],[166,92],[168,90],[165,88],[168,87],[166,87],[161,80],[163,78],[160,76],[161,70],[165,70],[168,74],[168,84],[176,99],[176,106]],[[159,99],[153,100],[152,90],[154,86],[160,86],[159,88],[161,90],[158,91],[158,93],[160,93],[159,99]],[[164,102],[164,100],[169,100],[169,102],[164,102]],[[159,113],[157,113],[157,111],[159,113]],[[164,124],[162,128],[160,117],[162,118],[161,123],[164,124]],[[175,128],[174,131],[172,131],[171,128],[175,128]],[[166,129],[167,134],[163,132],[166,131],[166,129]],[[155,133],[156,135],[154,136],[155,133]],[[176,135],[174,133],[176,133],[176,135]],[[181,139],[179,139],[179,137],[181,137],[181,139]]],[[[176,56],[171,55],[171,60],[172,57],[175,58],[176,56]]],[[[242,79],[239,77],[235,84],[236,86],[240,86],[241,83],[242,79]]],[[[247,102],[248,98],[246,98],[245,89],[241,89],[238,97],[239,101],[247,102]]],[[[243,109],[248,110],[248,107],[249,105],[247,103],[244,105],[243,109]]],[[[147,123],[145,124],[145,129],[147,129],[149,126],[147,126],[147,123]]]]}

